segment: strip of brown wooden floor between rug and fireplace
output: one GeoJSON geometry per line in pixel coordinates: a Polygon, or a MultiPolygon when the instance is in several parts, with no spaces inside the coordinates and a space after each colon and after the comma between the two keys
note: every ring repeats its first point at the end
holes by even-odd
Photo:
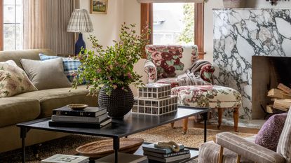
{"type": "MultiPolygon", "coordinates": [[[[183,122],[182,120],[175,122],[175,126],[182,126],[182,124],[183,124],[182,122],[183,122]]],[[[194,119],[189,118],[188,127],[203,128],[204,125],[201,123],[195,123],[194,119]]],[[[217,125],[209,125],[208,124],[207,128],[220,130],[223,132],[234,132],[233,126],[221,126],[220,129],[217,129],[217,125]]],[[[238,132],[243,132],[243,133],[248,133],[248,134],[257,134],[257,132],[259,132],[259,129],[247,128],[247,127],[238,127],[238,132]]]]}

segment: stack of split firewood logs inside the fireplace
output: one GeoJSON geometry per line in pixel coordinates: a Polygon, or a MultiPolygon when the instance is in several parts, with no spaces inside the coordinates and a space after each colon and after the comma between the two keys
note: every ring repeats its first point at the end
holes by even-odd
{"type": "Polygon", "coordinates": [[[266,106],[266,112],[273,113],[274,109],[287,112],[291,106],[291,88],[280,83],[277,88],[269,90],[268,97],[271,97],[273,105],[266,106]]]}

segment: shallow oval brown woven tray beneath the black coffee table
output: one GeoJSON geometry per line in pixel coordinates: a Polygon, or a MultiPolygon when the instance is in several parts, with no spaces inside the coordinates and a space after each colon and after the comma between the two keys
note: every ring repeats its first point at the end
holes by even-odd
{"type": "MultiPolygon", "coordinates": [[[[135,153],[135,151],[140,148],[140,146],[142,146],[142,143],[144,143],[144,139],[122,138],[120,139],[119,152],[135,153]]],[[[112,139],[95,141],[92,143],[87,143],[83,146],[79,146],[76,148],[76,151],[81,153],[81,155],[85,155],[91,158],[100,158],[114,153],[112,144],[112,139]]]]}

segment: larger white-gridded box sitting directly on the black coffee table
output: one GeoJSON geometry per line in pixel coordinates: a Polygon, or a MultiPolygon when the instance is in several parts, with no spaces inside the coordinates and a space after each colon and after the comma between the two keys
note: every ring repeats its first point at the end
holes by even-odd
{"type": "Polygon", "coordinates": [[[170,96],[164,99],[145,99],[135,97],[132,113],[163,115],[177,111],[177,96],[170,96]]]}

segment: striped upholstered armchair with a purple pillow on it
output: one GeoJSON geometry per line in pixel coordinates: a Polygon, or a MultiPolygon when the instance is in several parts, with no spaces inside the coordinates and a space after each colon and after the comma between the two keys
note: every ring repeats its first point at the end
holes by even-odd
{"type": "Polygon", "coordinates": [[[199,163],[291,163],[291,109],[280,134],[276,152],[228,132],[216,135],[216,143],[203,143],[199,163]]]}

